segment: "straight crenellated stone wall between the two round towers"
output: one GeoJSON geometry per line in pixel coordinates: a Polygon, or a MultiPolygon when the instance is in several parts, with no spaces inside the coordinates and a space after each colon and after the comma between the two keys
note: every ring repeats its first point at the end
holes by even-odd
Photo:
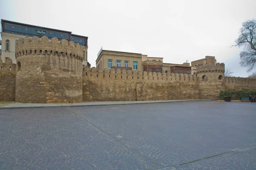
{"type": "Polygon", "coordinates": [[[85,70],[83,101],[199,99],[195,75],[85,70]]]}

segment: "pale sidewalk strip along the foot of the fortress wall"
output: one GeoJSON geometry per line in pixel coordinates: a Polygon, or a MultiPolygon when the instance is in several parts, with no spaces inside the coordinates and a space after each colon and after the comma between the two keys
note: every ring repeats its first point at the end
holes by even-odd
{"type": "Polygon", "coordinates": [[[82,106],[105,106],[105,105],[132,105],[145,103],[167,103],[167,102],[191,102],[191,101],[211,101],[211,100],[150,100],[150,101],[111,101],[111,102],[82,102],[82,103],[62,103],[62,104],[46,104],[46,103],[18,103],[10,102],[0,105],[0,109],[16,109],[16,108],[54,108],[54,107],[82,107],[82,106]]]}

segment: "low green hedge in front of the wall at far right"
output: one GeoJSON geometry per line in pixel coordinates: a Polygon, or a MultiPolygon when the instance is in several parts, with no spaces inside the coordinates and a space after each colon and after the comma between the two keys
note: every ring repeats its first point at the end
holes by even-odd
{"type": "Polygon", "coordinates": [[[250,95],[256,96],[256,90],[224,90],[220,92],[220,99],[224,100],[225,97],[230,97],[231,100],[240,100],[241,97],[249,97],[250,95]]]}

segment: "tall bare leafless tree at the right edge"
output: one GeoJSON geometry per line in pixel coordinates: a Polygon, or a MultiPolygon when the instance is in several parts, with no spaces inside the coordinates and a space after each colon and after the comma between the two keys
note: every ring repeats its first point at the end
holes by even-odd
{"type": "Polygon", "coordinates": [[[239,37],[236,39],[236,45],[244,46],[244,51],[240,53],[240,65],[251,71],[256,65],[256,20],[247,20],[240,28],[239,37]]]}

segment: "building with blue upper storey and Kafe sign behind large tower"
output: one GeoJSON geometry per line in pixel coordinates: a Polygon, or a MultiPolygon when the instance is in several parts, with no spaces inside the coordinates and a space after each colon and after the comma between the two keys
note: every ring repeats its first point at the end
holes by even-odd
{"type": "Polygon", "coordinates": [[[88,37],[72,34],[71,31],[63,31],[54,28],[47,28],[42,26],[34,26],[24,23],[17,23],[9,20],[1,20],[1,37],[2,37],[2,60],[5,62],[6,57],[12,59],[12,63],[16,64],[15,58],[15,40],[27,36],[37,36],[39,38],[47,36],[49,40],[57,37],[58,40],[66,39],[79,43],[84,47],[84,61],[83,65],[87,65],[87,49],[88,37]]]}

